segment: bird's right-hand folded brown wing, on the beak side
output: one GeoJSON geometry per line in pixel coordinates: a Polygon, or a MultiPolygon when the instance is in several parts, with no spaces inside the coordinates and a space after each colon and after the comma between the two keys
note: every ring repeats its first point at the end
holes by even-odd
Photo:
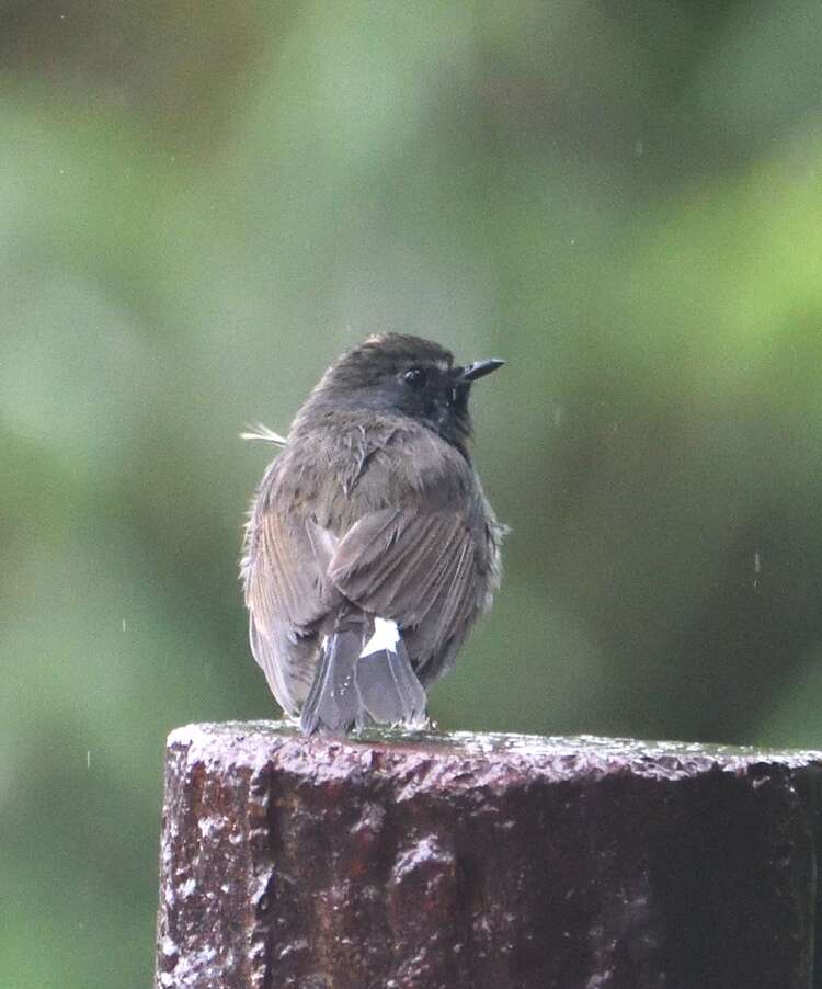
{"type": "Polygon", "coordinates": [[[328,573],[358,607],[402,627],[425,683],[453,659],[477,614],[477,557],[461,512],[386,509],[349,530],[328,573]]]}

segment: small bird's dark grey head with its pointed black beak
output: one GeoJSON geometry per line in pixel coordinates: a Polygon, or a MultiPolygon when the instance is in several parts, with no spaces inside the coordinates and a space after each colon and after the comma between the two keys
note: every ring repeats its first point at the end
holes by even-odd
{"type": "Polygon", "coordinates": [[[438,344],[388,333],[344,354],[319,390],[333,395],[338,407],[408,416],[467,452],[471,380],[500,363],[455,367],[453,354],[438,344]]]}

